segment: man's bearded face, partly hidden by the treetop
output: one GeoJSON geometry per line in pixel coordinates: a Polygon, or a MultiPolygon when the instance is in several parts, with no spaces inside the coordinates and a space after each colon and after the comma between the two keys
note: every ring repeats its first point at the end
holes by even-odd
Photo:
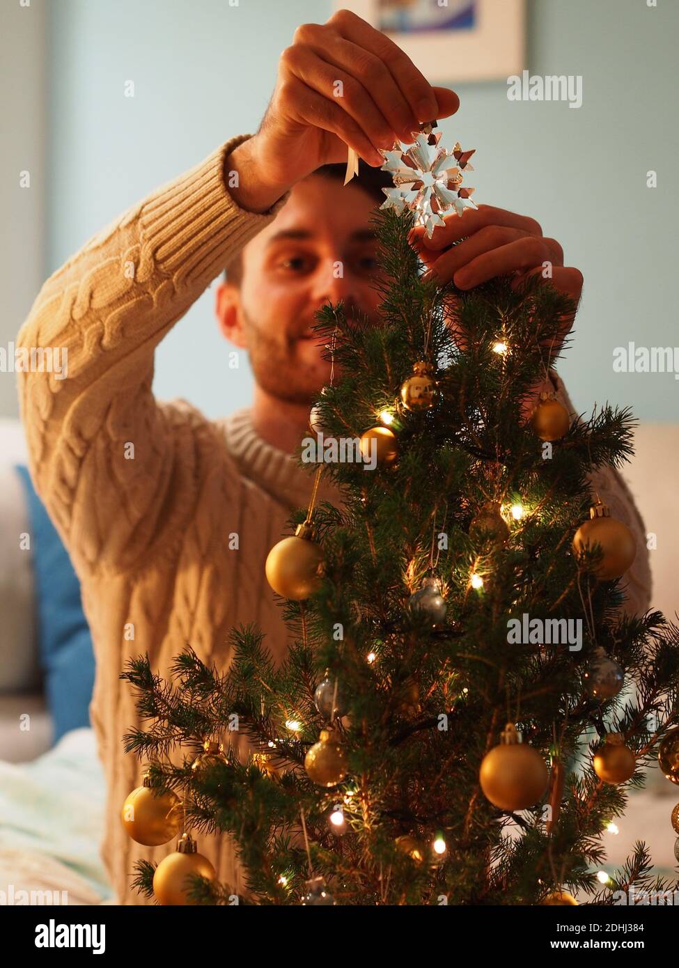
{"type": "Polygon", "coordinates": [[[220,287],[222,330],[249,351],[255,379],[272,397],[310,405],[328,382],[323,341],[311,330],[325,303],[341,300],[349,316],[377,321],[374,210],[357,185],[311,175],[243,250],[240,286],[220,287]]]}

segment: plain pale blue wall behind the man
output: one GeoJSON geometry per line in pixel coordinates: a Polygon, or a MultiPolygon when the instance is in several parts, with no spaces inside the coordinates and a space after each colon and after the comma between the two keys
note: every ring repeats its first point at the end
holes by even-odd
{"type": "MultiPolygon", "coordinates": [[[[253,131],[276,61],[296,24],[322,22],[329,0],[51,0],[51,272],[99,227],[253,131]],[[134,98],[123,96],[126,80],[134,98]]],[[[676,336],[676,42],[679,3],[536,0],[529,4],[532,74],[582,75],[583,105],[510,103],[504,81],[455,84],[461,108],[444,138],[478,149],[477,200],[537,218],[567,264],[585,275],[574,344],[560,370],[579,410],[631,404],[645,420],[676,420],[671,375],[621,375],[612,351],[673,346],[676,336]],[[659,187],[646,188],[658,171],[659,187]]],[[[244,367],[206,292],[158,353],[155,389],[210,416],[249,402],[244,367]]]]}

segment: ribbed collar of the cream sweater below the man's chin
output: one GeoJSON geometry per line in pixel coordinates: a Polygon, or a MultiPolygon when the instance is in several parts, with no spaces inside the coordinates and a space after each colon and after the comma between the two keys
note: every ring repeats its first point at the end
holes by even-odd
{"type": "MultiPolygon", "coordinates": [[[[314,486],[314,475],[301,468],[287,451],[263,440],[255,430],[252,410],[242,408],[218,421],[224,432],[227,449],[244,477],[262,488],[289,511],[307,507],[314,486]]],[[[341,504],[337,487],[321,477],[317,503],[341,504]]]]}

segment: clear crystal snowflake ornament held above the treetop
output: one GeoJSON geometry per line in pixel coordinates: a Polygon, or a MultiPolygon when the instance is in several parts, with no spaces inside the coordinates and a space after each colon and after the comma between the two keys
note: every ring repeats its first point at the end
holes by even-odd
{"type": "Polygon", "coordinates": [[[423,226],[427,238],[434,228],[443,226],[443,216],[462,215],[465,208],[476,208],[473,188],[462,188],[462,172],[474,171],[469,160],[476,149],[462,151],[459,142],[452,151],[439,147],[441,132],[434,133],[436,122],[427,124],[415,142],[403,146],[397,141],[391,151],[383,151],[383,171],[390,171],[394,188],[383,188],[382,208],[393,208],[400,215],[405,208],[417,212],[416,225],[423,226]]]}

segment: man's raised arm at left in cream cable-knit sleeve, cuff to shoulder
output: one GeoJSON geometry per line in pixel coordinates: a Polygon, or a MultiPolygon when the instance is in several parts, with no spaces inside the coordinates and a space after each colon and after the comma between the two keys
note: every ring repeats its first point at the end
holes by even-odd
{"type": "Polygon", "coordinates": [[[90,239],[46,281],[18,334],[31,475],[76,567],[131,567],[177,525],[171,482],[188,472],[176,454],[189,425],[154,400],[153,354],[275,214],[244,211],[227,190],[225,159],[246,137],[90,239]],[[47,348],[65,372],[30,369],[31,351],[48,360],[47,348]]]}

